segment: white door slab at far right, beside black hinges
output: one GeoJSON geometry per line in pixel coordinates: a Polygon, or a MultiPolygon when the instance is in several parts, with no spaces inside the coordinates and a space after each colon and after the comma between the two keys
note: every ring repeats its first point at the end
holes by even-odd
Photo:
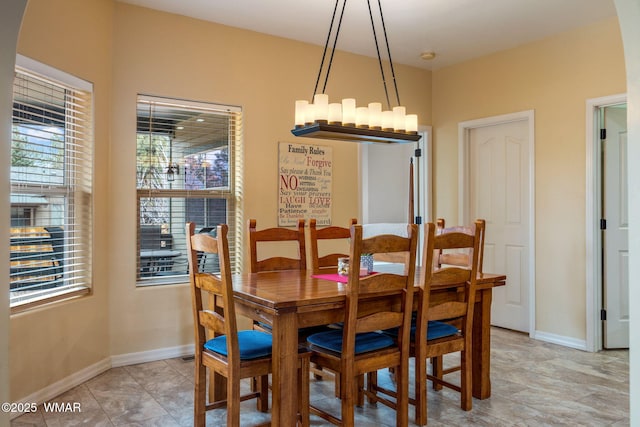
{"type": "Polygon", "coordinates": [[[626,104],[602,109],[604,347],[629,347],[629,238],[626,104]]]}

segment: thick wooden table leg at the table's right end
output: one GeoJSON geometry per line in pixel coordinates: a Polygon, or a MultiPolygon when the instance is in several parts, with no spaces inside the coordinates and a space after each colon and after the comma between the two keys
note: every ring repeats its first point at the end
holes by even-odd
{"type": "Polygon", "coordinates": [[[483,289],[477,294],[473,311],[473,397],[491,397],[491,298],[492,290],[483,289]]]}

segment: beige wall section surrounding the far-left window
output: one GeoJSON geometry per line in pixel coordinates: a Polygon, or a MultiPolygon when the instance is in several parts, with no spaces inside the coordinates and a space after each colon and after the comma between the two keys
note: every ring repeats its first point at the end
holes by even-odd
{"type": "Polygon", "coordinates": [[[93,295],[11,317],[11,398],[24,398],[111,354],[106,236],[111,97],[111,0],[31,0],[18,53],[94,84],[93,295]],[[55,19],[52,19],[55,17],[55,19]]]}

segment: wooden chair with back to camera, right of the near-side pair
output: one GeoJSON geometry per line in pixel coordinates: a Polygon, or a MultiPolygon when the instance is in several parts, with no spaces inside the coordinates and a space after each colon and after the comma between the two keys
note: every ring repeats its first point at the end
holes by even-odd
{"type": "MultiPolygon", "coordinates": [[[[463,410],[468,411],[472,407],[471,341],[483,227],[484,222],[476,221],[472,227],[473,231],[460,229],[442,234],[435,233],[436,226],[433,223],[428,223],[425,227],[421,275],[423,282],[418,291],[417,315],[411,334],[411,356],[415,357],[416,361],[416,380],[415,399],[411,399],[410,402],[415,405],[415,420],[418,425],[427,424],[427,380],[432,381],[434,385],[458,391],[463,410]],[[455,254],[460,250],[469,251],[469,266],[437,267],[436,256],[455,254]],[[432,300],[432,289],[448,290],[457,295],[456,301],[432,300]],[[445,354],[458,352],[460,383],[456,384],[445,379],[441,360],[445,354]],[[431,374],[427,372],[428,359],[432,359],[431,374]]],[[[374,402],[379,393],[393,394],[392,391],[378,386],[375,377],[367,386],[374,402]]]]}

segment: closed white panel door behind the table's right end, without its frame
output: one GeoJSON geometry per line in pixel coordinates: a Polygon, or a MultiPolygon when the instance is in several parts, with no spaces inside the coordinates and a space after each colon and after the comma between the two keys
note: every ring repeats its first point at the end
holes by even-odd
{"type": "MultiPolygon", "coordinates": [[[[529,121],[469,130],[469,216],[486,220],[483,271],[506,273],[491,323],[529,332],[529,121]]],[[[531,124],[533,126],[533,124],[531,124]]]]}

